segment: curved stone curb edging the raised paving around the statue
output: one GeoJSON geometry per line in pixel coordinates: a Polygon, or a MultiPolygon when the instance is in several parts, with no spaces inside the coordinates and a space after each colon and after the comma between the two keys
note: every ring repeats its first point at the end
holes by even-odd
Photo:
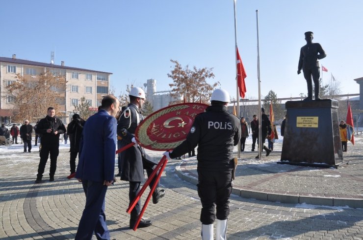
{"type": "MultiPolygon", "coordinates": [[[[177,175],[194,185],[198,184],[198,178],[184,174],[181,170],[181,164],[175,167],[177,175]]],[[[270,202],[281,202],[291,204],[312,204],[322,206],[334,206],[334,207],[345,207],[350,208],[363,208],[363,199],[360,198],[342,198],[342,197],[320,197],[320,196],[302,196],[302,195],[288,195],[288,194],[276,194],[260,191],[251,191],[246,189],[234,188],[232,194],[241,196],[244,198],[251,198],[262,201],[270,202]]]]}

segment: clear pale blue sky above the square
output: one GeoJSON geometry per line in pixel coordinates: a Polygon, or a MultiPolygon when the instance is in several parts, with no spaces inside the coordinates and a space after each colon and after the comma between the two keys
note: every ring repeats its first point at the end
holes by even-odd
{"type": "MultiPolygon", "coordinates": [[[[297,75],[304,32],[314,32],[327,57],[320,61],[343,94],[359,93],[363,77],[362,0],[237,0],[237,44],[247,72],[246,97],[258,98],[256,10],[259,10],[261,95],[307,93],[297,75]]],[[[170,90],[172,64],[213,67],[235,90],[233,0],[1,1],[0,56],[112,72],[116,93],[157,80],[170,90]]]]}

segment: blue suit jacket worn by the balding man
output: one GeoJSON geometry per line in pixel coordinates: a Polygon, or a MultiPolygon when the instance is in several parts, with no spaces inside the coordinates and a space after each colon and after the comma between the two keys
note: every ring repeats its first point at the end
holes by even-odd
{"type": "Polygon", "coordinates": [[[79,143],[77,178],[98,182],[113,180],[116,131],[116,118],[104,109],[87,119],[79,143]]]}

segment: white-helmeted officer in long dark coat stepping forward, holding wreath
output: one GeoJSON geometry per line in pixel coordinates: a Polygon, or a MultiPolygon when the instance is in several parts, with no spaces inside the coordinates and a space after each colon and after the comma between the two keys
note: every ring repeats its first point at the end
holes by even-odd
{"type": "MultiPolygon", "coordinates": [[[[129,199],[131,201],[136,197],[140,190],[140,184],[144,180],[144,169],[147,175],[151,175],[153,168],[157,165],[157,162],[153,160],[145,151],[137,145],[135,140],[136,127],[140,121],[143,120],[143,116],[140,113],[142,109],[145,92],[140,87],[133,87],[130,90],[130,104],[121,113],[119,122],[117,125],[117,134],[122,136],[123,145],[127,145],[131,142],[135,143],[134,146],[125,150],[125,156],[122,162],[121,180],[129,181],[129,199]]],[[[150,187],[154,185],[156,176],[151,181],[150,187]]],[[[156,204],[161,197],[165,195],[165,190],[158,188],[153,193],[153,203],[156,204]]],[[[133,228],[137,218],[140,214],[141,200],[139,200],[130,214],[130,228],[133,228]]],[[[152,224],[150,220],[141,219],[138,228],[148,227],[152,224]]]]}

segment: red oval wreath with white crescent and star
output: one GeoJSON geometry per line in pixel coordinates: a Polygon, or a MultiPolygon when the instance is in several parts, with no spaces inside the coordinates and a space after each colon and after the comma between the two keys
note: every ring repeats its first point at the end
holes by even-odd
{"type": "Polygon", "coordinates": [[[139,124],[135,138],[146,149],[174,149],[185,140],[195,117],[207,107],[202,103],[183,103],[157,110],[139,124]]]}

